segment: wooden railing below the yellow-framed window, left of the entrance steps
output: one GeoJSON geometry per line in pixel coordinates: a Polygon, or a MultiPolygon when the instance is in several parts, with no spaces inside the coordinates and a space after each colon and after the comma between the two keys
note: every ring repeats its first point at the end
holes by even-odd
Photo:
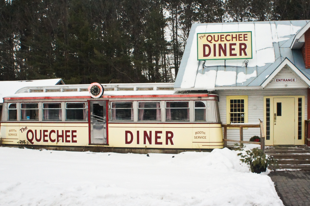
{"type": "Polygon", "coordinates": [[[264,127],[263,122],[259,120],[259,123],[235,123],[235,124],[222,124],[222,127],[224,127],[224,147],[227,147],[227,142],[237,142],[245,144],[260,144],[260,148],[265,151],[265,133],[264,133],[264,127]],[[240,130],[240,140],[234,140],[234,139],[227,139],[227,127],[239,127],[240,130]],[[250,142],[250,141],[243,141],[243,128],[260,128],[260,142],[250,142]]]}

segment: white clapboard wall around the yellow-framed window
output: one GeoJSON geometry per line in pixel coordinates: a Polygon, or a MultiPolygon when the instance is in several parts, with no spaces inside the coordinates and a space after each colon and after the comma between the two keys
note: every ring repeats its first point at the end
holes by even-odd
{"type": "MultiPolygon", "coordinates": [[[[253,89],[253,90],[216,90],[219,95],[219,113],[221,121],[226,124],[226,96],[247,95],[248,96],[248,123],[263,121],[263,97],[264,96],[305,96],[305,119],[307,119],[307,88],[291,88],[291,89],[253,89]],[[257,109],[253,109],[256,105],[257,109]]],[[[254,136],[260,135],[259,128],[248,128],[243,130],[243,139],[249,141],[254,136]]],[[[240,139],[239,128],[227,130],[228,139],[240,139]]],[[[233,145],[234,143],[229,143],[233,145]]]]}

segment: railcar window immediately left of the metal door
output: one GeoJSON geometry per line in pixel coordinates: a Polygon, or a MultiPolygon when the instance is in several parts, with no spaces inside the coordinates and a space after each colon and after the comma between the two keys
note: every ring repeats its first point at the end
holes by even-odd
{"type": "Polygon", "coordinates": [[[79,121],[87,120],[87,110],[85,102],[66,103],[66,120],[79,121]]]}

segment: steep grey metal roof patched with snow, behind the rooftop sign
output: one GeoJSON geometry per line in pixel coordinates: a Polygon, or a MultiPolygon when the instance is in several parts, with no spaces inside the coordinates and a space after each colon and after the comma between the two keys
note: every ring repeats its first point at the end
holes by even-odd
{"type": "MultiPolygon", "coordinates": [[[[267,77],[286,59],[310,79],[310,72],[305,69],[300,49],[291,49],[291,46],[294,48],[293,45],[296,44],[293,42],[296,34],[301,36],[300,33],[305,32],[301,29],[309,27],[308,22],[309,20],[193,24],[174,88],[209,91],[229,87],[260,88],[267,77]],[[200,33],[218,32],[251,32],[253,57],[247,60],[241,58],[198,61],[197,33],[199,36],[200,33]]],[[[229,49],[227,46],[227,50],[229,49]]]]}

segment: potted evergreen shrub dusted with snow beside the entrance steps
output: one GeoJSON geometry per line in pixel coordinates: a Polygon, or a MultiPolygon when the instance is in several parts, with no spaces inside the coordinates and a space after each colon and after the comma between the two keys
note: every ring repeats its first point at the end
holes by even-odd
{"type": "Polygon", "coordinates": [[[277,165],[277,160],[272,156],[266,155],[263,150],[254,148],[253,150],[246,150],[240,148],[241,153],[238,156],[241,157],[241,161],[250,165],[251,172],[261,173],[266,172],[268,165],[277,165]]]}

